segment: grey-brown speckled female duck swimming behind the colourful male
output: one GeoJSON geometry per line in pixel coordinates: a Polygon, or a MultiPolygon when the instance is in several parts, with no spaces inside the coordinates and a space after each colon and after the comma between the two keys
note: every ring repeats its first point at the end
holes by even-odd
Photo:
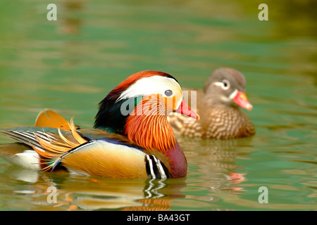
{"type": "Polygon", "coordinates": [[[254,125],[240,109],[252,109],[244,89],[245,79],[241,72],[218,68],[207,79],[204,90],[197,91],[197,113],[200,120],[188,123],[182,115],[174,114],[168,116],[168,121],[175,134],[184,136],[207,139],[252,136],[255,134],[254,125]]]}

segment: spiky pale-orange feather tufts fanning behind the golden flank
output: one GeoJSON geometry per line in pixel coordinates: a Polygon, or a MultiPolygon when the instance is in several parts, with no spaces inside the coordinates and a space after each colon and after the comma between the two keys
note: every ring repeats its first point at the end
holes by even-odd
{"type": "MultiPolygon", "coordinates": [[[[56,113],[56,115],[58,114],[56,113]]],[[[42,158],[44,158],[44,162],[41,163],[45,165],[48,164],[48,166],[44,167],[43,170],[54,169],[54,167],[58,164],[61,155],[67,153],[73,148],[82,145],[83,143],[87,143],[87,140],[83,139],[80,134],[77,133],[73,118],[70,119],[70,122],[68,122],[67,126],[70,128],[72,135],[71,137],[73,138],[72,141],[69,139],[69,137],[67,139],[65,136],[63,136],[60,127],[58,127],[58,134],[56,134],[58,135],[59,139],[52,139],[49,135],[46,134],[46,138],[48,140],[45,140],[35,134],[37,142],[45,151],[37,148],[36,146],[33,146],[32,144],[31,146],[42,158]]]]}

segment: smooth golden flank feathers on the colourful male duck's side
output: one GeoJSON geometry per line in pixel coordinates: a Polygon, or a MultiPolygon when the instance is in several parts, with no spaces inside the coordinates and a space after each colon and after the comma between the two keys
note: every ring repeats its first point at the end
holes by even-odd
{"type": "Polygon", "coordinates": [[[145,153],[107,141],[92,141],[63,156],[71,172],[111,178],[147,178],[145,153]]]}

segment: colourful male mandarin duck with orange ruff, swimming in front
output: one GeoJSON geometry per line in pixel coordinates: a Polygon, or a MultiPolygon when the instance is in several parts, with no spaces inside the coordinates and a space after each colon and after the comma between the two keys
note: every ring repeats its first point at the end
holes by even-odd
{"type": "Polygon", "coordinates": [[[8,162],[32,169],[113,178],[180,178],[187,160],[167,120],[178,112],[198,119],[178,81],[158,71],[131,75],[99,103],[94,129],[77,129],[52,110],[35,127],[1,131],[20,141],[4,144],[8,162]]]}

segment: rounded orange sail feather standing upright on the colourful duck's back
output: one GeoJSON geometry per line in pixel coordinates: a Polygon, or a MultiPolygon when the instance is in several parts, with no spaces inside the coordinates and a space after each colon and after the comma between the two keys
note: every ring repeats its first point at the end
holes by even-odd
{"type": "Polygon", "coordinates": [[[68,121],[61,117],[61,115],[49,109],[40,112],[39,115],[37,115],[37,120],[35,120],[35,127],[54,127],[70,130],[68,124],[68,121]]]}

